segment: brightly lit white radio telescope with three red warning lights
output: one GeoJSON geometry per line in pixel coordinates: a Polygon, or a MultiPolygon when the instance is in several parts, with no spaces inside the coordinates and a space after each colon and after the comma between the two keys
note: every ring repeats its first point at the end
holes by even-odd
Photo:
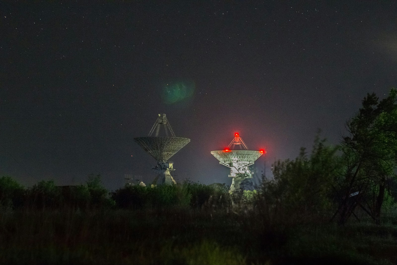
{"type": "Polygon", "coordinates": [[[266,153],[266,151],[248,150],[247,145],[245,145],[239,133],[234,134],[233,141],[231,141],[225,150],[211,151],[211,154],[218,159],[219,164],[230,168],[229,177],[232,178],[230,186],[231,192],[240,188],[240,183],[243,180],[254,176],[254,171],[250,170],[249,166],[253,165],[255,160],[263,155],[263,153],[266,153]],[[238,145],[241,150],[232,150],[235,145],[238,145]]]}

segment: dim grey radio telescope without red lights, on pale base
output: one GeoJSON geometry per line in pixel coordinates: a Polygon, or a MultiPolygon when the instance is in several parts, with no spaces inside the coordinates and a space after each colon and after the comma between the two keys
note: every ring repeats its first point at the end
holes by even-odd
{"type": "Polygon", "coordinates": [[[173,132],[170,123],[166,118],[166,114],[158,114],[158,118],[149,135],[146,137],[136,137],[134,141],[137,142],[143,150],[151,155],[157,161],[157,166],[153,169],[158,171],[158,175],[154,178],[152,186],[156,186],[159,178],[162,178],[164,184],[176,184],[174,178],[171,176],[173,168],[173,162],[168,161],[177,151],[181,150],[182,147],[190,142],[188,138],[176,137],[173,132]],[[165,137],[159,137],[160,127],[164,126],[166,133],[165,137]],[[156,131],[155,136],[152,134],[156,131]]]}

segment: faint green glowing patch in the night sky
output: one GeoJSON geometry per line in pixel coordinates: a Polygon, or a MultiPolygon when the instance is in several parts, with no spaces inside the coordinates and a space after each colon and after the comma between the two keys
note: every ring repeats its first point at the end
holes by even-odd
{"type": "Polygon", "coordinates": [[[163,88],[162,100],[167,104],[177,103],[192,97],[194,91],[193,82],[168,83],[163,88]]]}

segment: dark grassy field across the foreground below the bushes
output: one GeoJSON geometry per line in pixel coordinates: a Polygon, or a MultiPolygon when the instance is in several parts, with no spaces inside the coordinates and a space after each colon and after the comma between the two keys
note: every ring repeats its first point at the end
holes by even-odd
{"type": "Polygon", "coordinates": [[[397,226],[275,224],[251,211],[14,211],[1,263],[395,264],[397,226]]]}

